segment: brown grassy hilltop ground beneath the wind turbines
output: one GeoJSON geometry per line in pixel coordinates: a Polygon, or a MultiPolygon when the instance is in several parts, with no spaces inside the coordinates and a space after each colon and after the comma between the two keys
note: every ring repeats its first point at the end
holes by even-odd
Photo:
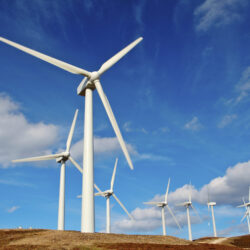
{"type": "Polygon", "coordinates": [[[201,238],[80,233],[44,229],[2,229],[0,249],[249,249],[250,236],[201,238]]]}

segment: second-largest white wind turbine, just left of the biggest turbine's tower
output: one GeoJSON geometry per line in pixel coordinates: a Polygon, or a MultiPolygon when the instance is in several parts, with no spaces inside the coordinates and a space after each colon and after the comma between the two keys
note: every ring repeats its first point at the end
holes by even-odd
{"type": "Polygon", "coordinates": [[[61,163],[61,170],[60,170],[60,186],[59,186],[59,205],[58,205],[58,230],[64,230],[64,217],[65,217],[65,163],[67,160],[70,160],[73,165],[82,172],[81,167],[79,164],[70,156],[70,146],[72,142],[72,137],[74,134],[76,119],[78,115],[78,109],[75,112],[74,119],[69,131],[68,139],[66,142],[66,149],[62,153],[53,154],[53,155],[45,155],[45,156],[38,156],[32,158],[25,158],[19,160],[13,160],[12,162],[31,162],[31,161],[46,161],[46,160],[56,160],[58,163],[61,163]]]}

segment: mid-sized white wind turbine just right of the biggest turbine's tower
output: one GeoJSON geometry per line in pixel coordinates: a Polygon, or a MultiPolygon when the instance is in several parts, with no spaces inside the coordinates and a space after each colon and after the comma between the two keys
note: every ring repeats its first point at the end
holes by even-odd
{"type": "Polygon", "coordinates": [[[121,203],[121,201],[114,194],[113,187],[114,187],[114,182],[115,182],[115,173],[116,173],[117,162],[118,162],[118,159],[116,158],[115,166],[114,166],[114,170],[113,170],[113,175],[112,175],[112,179],[110,182],[110,189],[103,191],[103,192],[101,191],[101,192],[95,194],[96,196],[103,196],[106,198],[106,233],[110,233],[110,197],[111,196],[113,196],[116,199],[116,201],[121,206],[121,208],[125,211],[125,213],[128,215],[128,217],[131,220],[133,220],[133,217],[131,216],[131,214],[128,212],[128,210],[125,208],[125,206],[121,203]]]}

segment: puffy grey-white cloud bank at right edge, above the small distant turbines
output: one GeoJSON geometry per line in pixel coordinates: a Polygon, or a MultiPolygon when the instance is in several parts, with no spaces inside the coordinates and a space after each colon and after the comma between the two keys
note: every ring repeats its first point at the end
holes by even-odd
{"type": "MultiPolygon", "coordinates": [[[[239,205],[242,197],[248,199],[248,187],[250,175],[250,161],[238,163],[229,167],[222,177],[217,177],[205,184],[201,189],[195,189],[192,185],[184,185],[177,188],[168,195],[168,201],[172,204],[184,202],[188,199],[188,192],[191,192],[192,201],[206,204],[209,197],[217,205],[239,205]]],[[[159,201],[164,195],[156,195],[153,200],[159,201]]]]}

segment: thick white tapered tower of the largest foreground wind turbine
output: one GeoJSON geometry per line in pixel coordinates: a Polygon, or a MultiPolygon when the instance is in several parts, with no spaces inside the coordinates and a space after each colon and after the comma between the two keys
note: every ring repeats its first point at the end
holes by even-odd
{"type": "Polygon", "coordinates": [[[81,232],[95,232],[93,91],[85,91],[81,232]]]}

